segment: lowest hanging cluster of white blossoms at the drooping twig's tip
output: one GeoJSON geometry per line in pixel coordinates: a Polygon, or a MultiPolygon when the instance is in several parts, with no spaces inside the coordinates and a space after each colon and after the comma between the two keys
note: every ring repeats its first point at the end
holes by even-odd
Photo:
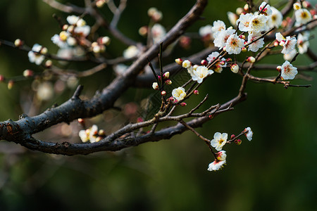
{"type": "MultiPolygon", "coordinates": [[[[249,141],[252,140],[253,132],[250,127],[245,128],[243,133],[249,141]]],[[[231,139],[235,139],[235,135],[232,135],[231,139]]],[[[210,144],[213,148],[216,148],[216,151],[218,151],[218,153],[215,154],[216,159],[209,164],[209,171],[220,170],[220,168],[223,167],[223,165],[225,165],[225,159],[227,158],[227,154],[225,153],[225,151],[222,150],[223,146],[225,146],[225,143],[228,143],[227,133],[221,134],[220,132],[216,132],[213,135],[213,139],[211,140],[210,144]]],[[[235,143],[240,145],[241,140],[237,139],[235,140],[235,143]]]]}

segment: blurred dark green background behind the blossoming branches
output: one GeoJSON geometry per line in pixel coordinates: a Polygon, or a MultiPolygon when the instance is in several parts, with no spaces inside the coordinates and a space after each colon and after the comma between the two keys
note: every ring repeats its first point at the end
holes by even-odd
{"type": "MultiPolygon", "coordinates": [[[[83,1],[73,1],[73,4],[82,5],[83,1]]],[[[170,29],[193,4],[194,1],[189,0],[130,0],[118,27],[128,37],[144,41],[137,30],[149,23],[149,7],[163,12],[161,24],[170,29]]],[[[197,32],[199,27],[212,24],[213,20],[224,20],[229,25],[227,11],[234,12],[237,6],[243,5],[242,1],[210,1],[204,12],[205,19],[188,32],[197,32]]],[[[106,6],[102,11],[111,17],[106,6]]],[[[0,39],[20,38],[29,46],[39,43],[56,53],[51,37],[60,29],[52,18],[53,13],[62,18],[67,16],[42,1],[2,0],[0,39]]],[[[89,17],[85,20],[92,23],[89,17]]],[[[108,35],[106,31],[100,33],[108,35]]],[[[315,53],[316,44],[316,39],[311,40],[315,53]]],[[[120,56],[125,48],[113,39],[107,52],[120,56]]],[[[163,62],[168,64],[203,48],[201,41],[193,40],[192,49],[176,46],[170,58],[163,62]]],[[[278,55],[266,62],[281,65],[284,61],[282,55],[278,55]]],[[[294,65],[309,62],[306,56],[299,55],[294,65]]],[[[69,67],[85,70],[92,64],[71,63],[69,67]]],[[[1,75],[15,77],[27,68],[42,71],[28,62],[27,53],[0,46],[1,75]]],[[[254,74],[277,75],[267,70],[254,74]]],[[[316,70],[305,74],[314,77],[313,80],[294,79],[294,84],[312,84],[309,89],[284,89],[280,85],[249,82],[247,101],[198,129],[209,139],[215,132],[238,134],[244,127],[254,131],[251,142],[242,139],[241,146],[225,146],[227,165],[218,172],[206,170],[212,155],[203,141],[191,132],[116,153],[72,157],[27,151],[14,143],[0,141],[0,210],[316,210],[317,76],[316,70]]],[[[112,69],[108,68],[80,79],[79,83],[85,85],[83,94],[91,97],[113,77],[112,69]]],[[[199,90],[200,95],[189,101],[187,107],[192,108],[206,93],[211,96],[206,106],[224,103],[237,95],[240,83],[241,77],[226,69],[221,75],[210,77],[199,90]]],[[[0,84],[0,121],[17,120],[18,115],[27,113],[25,110],[30,105],[25,106],[25,101],[32,102],[30,98],[34,94],[31,84],[32,80],[18,82],[11,90],[5,83],[0,84]]],[[[53,103],[63,103],[73,89],[66,88],[51,101],[40,103],[37,111],[53,103]]],[[[131,89],[117,104],[139,102],[152,93],[150,89],[131,89]]],[[[127,121],[126,116],[116,112],[99,115],[91,121],[107,129],[114,116],[123,123],[127,121]]],[[[79,141],[77,132],[61,137],[58,129],[56,126],[39,136],[46,141],[79,141]]]]}

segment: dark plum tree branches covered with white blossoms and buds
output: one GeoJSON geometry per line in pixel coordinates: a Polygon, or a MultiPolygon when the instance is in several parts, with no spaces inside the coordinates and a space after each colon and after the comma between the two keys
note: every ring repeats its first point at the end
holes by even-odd
{"type": "MultiPolygon", "coordinates": [[[[215,160],[211,162],[208,170],[219,170],[226,162],[227,155],[222,150],[225,144],[240,145],[242,141],[238,138],[242,135],[251,141],[253,135],[251,128],[245,128],[237,136],[232,134],[230,138],[227,133],[216,132],[213,139],[199,134],[196,128],[221,113],[233,110],[235,105],[246,100],[245,90],[247,82],[250,80],[283,84],[285,88],[310,87],[310,84],[291,84],[290,80],[304,71],[316,72],[317,56],[309,48],[309,39],[311,39],[309,32],[316,27],[316,15],[311,15],[311,13],[316,13],[316,11],[313,10],[314,12],[310,13],[308,9],[302,8],[301,4],[295,5],[296,1],[289,1],[282,11],[278,11],[266,2],[257,5],[253,1],[246,1],[247,4],[243,8],[237,9],[237,13],[229,16],[232,26],[228,27],[222,20],[216,20],[213,25],[201,27],[199,36],[192,36],[192,38],[186,36],[185,32],[189,26],[200,19],[206,8],[207,0],[197,0],[190,11],[168,32],[159,24],[163,17],[161,11],[149,8],[149,25],[139,29],[139,34],[147,38],[145,44],[130,39],[118,30],[118,23],[122,20],[121,15],[127,6],[127,0],[120,0],[118,6],[112,0],[93,2],[85,0],[85,7],[61,4],[54,0],[43,1],[59,11],[79,15],[69,15],[66,18],[66,24],[60,20],[62,31],[51,37],[51,41],[59,47],[60,51],[66,51],[69,55],[48,53],[48,50],[39,44],[30,48],[20,39],[15,40],[14,43],[0,40],[1,44],[28,52],[31,63],[40,65],[46,70],[46,73],[49,72],[56,77],[87,77],[112,66],[116,71],[116,78],[92,98],[87,99],[81,96],[84,88],[80,85],[73,96],[61,106],[52,106],[33,117],[23,114],[17,121],[0,122],[1,139],[19,143],[31,150],[63,155],[119,151],[149,141],[170,139],[176,134],[190,130],[199,139],[202,139],[213,153],[215,160]],[[104,14],[99,9],[105,4],[113,13],[110,21],[104,18],[104,14]],[[293,8],[294,18],[292,20],[289,20],[289,17],[285,18],[293,8]],[[92,27],[85,22],[86,15],[94,19],[95,23],[92,27]],[[285,19],[283,20],[283,18],[285,19]],[[99,37],[97,33],[99,27],[104,27],[109,34],[128,46],[128,49],[123,51],[123,56],[109,58],[104,53],[111,38],[99,37]],[[194,37],[201,39],[206,45],[206,49],[187,58],[176,58],[175,63],[163,66],[163,59],[166,58],[164,56],[170,56],[176,44],[187,48],[194,37]],[[306,54],[313,60],[311,64],[297,67],[292,65],[299,55],[296,46],[300,54],[306,54]],[[252,52],[250,54],[247,51],[252,52]],[[266,56],[276,53],[281,53],[285,58],[282,65],[259,64],[266,56]],[[238,61],[238,54],[244,54],[245,59],[238,61]],[[233,56],[233,59],[230,56],[233,56]],[[60,67],[50,59],[63,62],[89,62],[94,66],[87,70],[71,70],[60,67]],[[46,60],[45,63],[44,60],[46,60]],[[132,62],[132,64],[125,65],[128,62],[132,62]],[[159,68],[156,68],[158,65],[159,68]],[[123,67],[123,70],[119,71],[118,67],[123,67]],[[147,68],[150,70],[147,71],[147,68]],[[210,77],[218,77],[224,70],[231,70],[233,73],[241,75],[242,82],[237,96],[228,99],[225,103],[210,106],[206,105],[209,97],[209,94],[206,94],[201,101],[195,104],[197,106],[187,105],[189,98],[194,98],[199,94],[203,83],[206,83],[210,77]],[[251,71],[254,70],[278,70],[278,76],[256,77],[251,75],[251,71]],[[185,72],[188,77],[185,81],[178,82],[177,77],[182,75],[182,72],[185,72]],[[170,91],[168,87],[172,87],[171,84],[175,82],[178,84],[175,89],[170,91]],[[94,117],[106,110],[117,109],[115,103],[130,87],[153,87],[154,91],[159,91],[159,100],[156,102],[156,107],[159,106],[159,108],[155,107],[154,113],[150,113],[150,117],[147,119],[139,117],[137,122],[130,120],[130,123],[108,134],[104,129],[98,129],[97,125],[85,127],[79,132],[83,143],[42,141],[33,136],[61,122],[69,124],[73,120],[78,120],[85,125],[83,124],[84,118],[94,117]],[[203,104],[207,108],[198,112],[203,104]],[[183,106],[190,106],[191,109],[175,115],[175,110],[180,110],[183,106]],[[175,122],[175,125],[163,126],[158,130],[158,125],[162,125],[161,122],[175,122]]],[[[25,77],[23,79],[37,79],[38,77],[44,79],[45,76],[44,72],[35,74],[32,70],[25,70],[23,75],[25,77]]],[[[18,79],[5,79],[1,75],[0,81],[8,82],[8,88],[12,88],[13,82],[18,82],[18,79]]]]}

